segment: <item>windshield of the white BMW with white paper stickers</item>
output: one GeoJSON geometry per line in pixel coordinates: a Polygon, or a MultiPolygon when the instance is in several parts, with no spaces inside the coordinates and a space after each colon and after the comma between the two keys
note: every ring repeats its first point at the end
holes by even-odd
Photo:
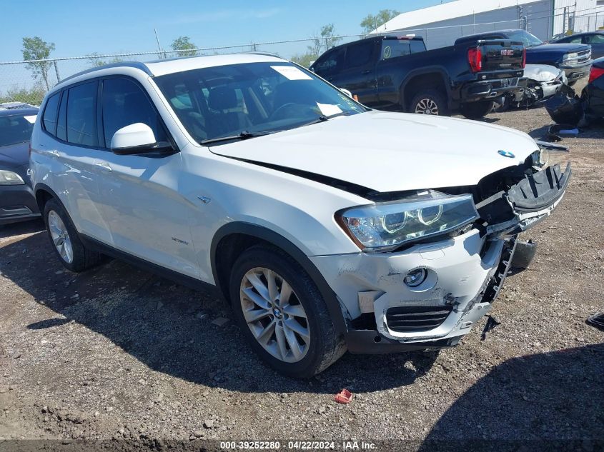
{"type": "Polygon", "coordinates": [[[281,62],[194,69],[155,81],[198,143],[294,129],[366,111],[314,74],[281,62]]]}

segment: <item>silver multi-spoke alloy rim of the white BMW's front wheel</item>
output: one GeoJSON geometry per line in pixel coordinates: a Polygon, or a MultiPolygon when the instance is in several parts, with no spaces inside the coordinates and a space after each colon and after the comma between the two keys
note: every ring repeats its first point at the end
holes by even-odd
{"type": "Polygon", "coordinates": [[[247,326],[264,350],[287,363],[306,356],[311,337],[307,314],[282,276],[252,268],[242,278],[239,300],[247,326]]]}

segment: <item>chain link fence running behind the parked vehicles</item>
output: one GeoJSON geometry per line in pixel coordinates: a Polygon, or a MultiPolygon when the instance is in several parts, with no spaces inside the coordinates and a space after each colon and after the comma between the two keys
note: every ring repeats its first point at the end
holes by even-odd
{"type": "MultiPolygon", "coordinates": [[[[415,34],[422,36],[428,49],[439,46],[451,45],[455,39],[467,34],[494,31],[497,29],[528,29],[531,31],[531,22],[538,20],[563,21],[563,29],[595,30],[604,26],[604,13],[598,9],[571,11],[565,8],[556,11],[558,14],[543,14],[525,17],[512,21],[489,22],[480,24],[465,24],[454,26],[440,26],[433,28],[405,29],[390,31],[396,34],[415,34]]],[[[0,61],[0,103],[16,101],[31,105],[41,104],[44,94],[62,79],[80,71],[104,64],[120,61],[154,61],[158,59],[171,59],[182,56],[201,56],[215,54],[235,54],[241,52],[268,52],[277,54],[286,59],[297,61],[303,66],[310,66],[317,56],[337,44],[355,41],[364,37],[360,34],[315,37],[310,39],[294,39],[289,41],[268,41],[233,46],[215,46],[202,49],[187,49],[182,51],[155,51],[132,52],[121,54],[89,54],[70,58],[55,58],[30,61],[0,61]]]]}

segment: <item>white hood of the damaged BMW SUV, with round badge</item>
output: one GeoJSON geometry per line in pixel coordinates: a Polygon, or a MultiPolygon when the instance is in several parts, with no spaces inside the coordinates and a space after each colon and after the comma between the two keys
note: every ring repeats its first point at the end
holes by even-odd
{"type": "Polygon", "coordinates": [[[537,149],[527,134],[492,124],[370,111],[211,151],[389,192],[475,185],[537,149]]]}

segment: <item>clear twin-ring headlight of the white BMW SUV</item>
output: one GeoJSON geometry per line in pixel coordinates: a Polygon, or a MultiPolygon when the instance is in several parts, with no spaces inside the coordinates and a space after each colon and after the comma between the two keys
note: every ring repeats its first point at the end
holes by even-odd
{"type": "Polygon", "coordinates": [[[403,243],[453,231],[477,218],[471,195],[449,196],[432,190],[336,214],[340,226],[365,251],[389,251],[403,243]]]}

